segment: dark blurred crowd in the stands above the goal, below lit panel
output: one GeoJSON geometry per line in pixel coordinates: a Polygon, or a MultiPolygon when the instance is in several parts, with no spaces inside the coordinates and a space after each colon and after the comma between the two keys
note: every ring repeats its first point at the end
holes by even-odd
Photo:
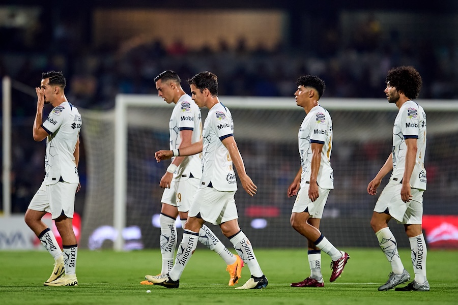
{"type": "MultiPolygon", "coordinates": [[[[454,41],[438,45],[430,37],[400,39],[393,29],[385,32],[374,18],[354,28],[347,41],[342,41],[338,23],[330,20],[317,28],[322,39],[314,42],[313,49],[304,49],[303,44],[295,47],[294,39],[270,50],[262,45],[248,49],[243,38],[236,47],[221,40],[218,50],[189,49],[180,41],[166,46],[159,40],[94,48],[78,34],[85,30],[71,19],[51,22],[47,15],[40,17],[33,31],[0,28],[0,75],[35,87],[41,72],[64,71],[71,103],[111,109],[120,93],[157,94],[153,79],[166,69],[181,76],[186,91],[187,78],[212,71],[219,77],[221,96],[293,97],[297,77],[314,74],[326,81],[324,98],[383,98],[387,70],[413,65],[423,77],[420,98],[458,99],[458,45],[454,41]]],[[[43,178],[44,144],[32,138],[35,92],[24,89],[12,94],[16,173],[12,203],[13,212],[23,212],[43,178]]],[[[81,161],[84,185],[84,156],[81,161]]]]}

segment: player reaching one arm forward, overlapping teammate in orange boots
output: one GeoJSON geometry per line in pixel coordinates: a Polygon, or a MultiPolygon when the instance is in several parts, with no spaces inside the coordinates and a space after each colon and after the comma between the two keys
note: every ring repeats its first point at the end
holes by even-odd
{"type": "Polygon", "coordinates": [[[209,109],[204,124],[203,138],[190,146],[156,151],[158,162],[171,156],[191,156],[203,152],[202,178],[189,210],[183,239],[178,247],[174,267],[166,278],[146,277],[154,284],[167,288],[178,288],[180,277],[196,246],[198,232],[204,223],[218,224],[222,233],[234,245],[251,272],[251,278],[236,289],[260,289],[267,286],[267,278],[256,257],[251,242],[238,224],[234,195],[237,180],[235,165],[243,189],[250,195],[256,194],[257,187],[246,174],[242,156],[234,139],[234,123],[231,111],[218,100],[218,79],[215,74],[205,71],[188,79],[192,99],[198,107],[209,109]]]}

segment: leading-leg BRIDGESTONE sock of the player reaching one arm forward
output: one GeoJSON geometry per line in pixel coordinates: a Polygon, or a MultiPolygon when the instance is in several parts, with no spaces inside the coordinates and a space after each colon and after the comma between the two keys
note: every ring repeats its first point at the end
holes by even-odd
{"type": "Polygon", "coordinates": [[[185,229],[183,239],[178,246],[177,257],[174,267],[168,272],[171,280],[177,281],[181,278],[184,268],[197,247],[199,233],[185,229]]]}

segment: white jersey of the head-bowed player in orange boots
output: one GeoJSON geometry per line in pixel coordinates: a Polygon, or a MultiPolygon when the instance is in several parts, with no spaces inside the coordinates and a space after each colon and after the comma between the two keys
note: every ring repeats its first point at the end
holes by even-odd
{"type": "MultiPolygon", "coordinates": [[[[198,142],[202,136],[201,109],[194,103],[187,94],[182,95],[175,105],[170,116],[170,150],[180,146],[180,131],[192,130],[191,143],[198,142]]],[[[186,180],[192,174],[195,178],[202,177],[201,154],[184,158],[174,173],[174,179],[186,180]]]]}

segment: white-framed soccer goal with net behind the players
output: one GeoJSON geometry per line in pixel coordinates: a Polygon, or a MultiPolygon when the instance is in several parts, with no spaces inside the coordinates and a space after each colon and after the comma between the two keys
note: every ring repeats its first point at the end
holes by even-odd
{"type": "MultiPolygon", "coordinates": [[[[297,134],[305,117],[293,98],[220,97],[234,118],[234,136],[246,171],[258,187],[254,197],[241,185],[236,193],[239,224],[254,247],[306,247],[290,226],[295,198],[287,190],[300,168],[297,134]]],[[[458,102],[419,101],[427,114],[425,156],[428,190],[425,216],[458,215],[458,102]]],[[[397,108],[384,99],[322,99],[334,128],[330,192],[321,231],[337,247],[373,247],[377,238],[369,221],[378,196],[366,192],[391,153],[397,108]]],[[[154,153],[168,149],[168,121],[173,105],[157,96],[119,95],[116,109],[80,109],[87,156],[87,198],[81,246],[90,249],[158,248],[162,189],[159,181],[169,161],[154,153]]],[[[203,121],[207,109],[202,109],[203,121]]],[[[388,181],[382,181],[381,188],[388,181]]],[[[210,226],[228,247],[217,226],[210,226]]],[[[403,227],[392,221],[401,247],[408,247],[403,227]]],[[[457,229],[458,231],[458,229],[457,229]]],[[[456,232],[455,232],[456,234],[456,232]]],[[[396,236],[397,237],[397,236],[396,236]]]]}

